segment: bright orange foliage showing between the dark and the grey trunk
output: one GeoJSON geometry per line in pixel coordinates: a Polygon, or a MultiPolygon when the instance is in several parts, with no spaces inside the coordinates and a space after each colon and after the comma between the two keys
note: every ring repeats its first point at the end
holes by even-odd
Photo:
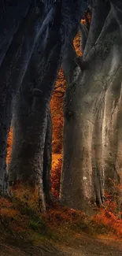
{"type": "MultiPolygon", "coordinates": [[[[74,41],[74,46],[76,49],[76,54],[81,56],[80,50],[80,35],[79,32],[76,35],[74,41]]],[[[57,83],[55,86],[54,94],[50,102],[50,109],[53,121],[53,159],[55,159],[56,154],[59,154],[59,161],[56,165],[52,165],[51,174],[51,191],[54,195],[59,197],[60,182],[61,182],[61,152],[62,152],[62,139],[63,139],[63,97],[65,95],[66,81],[63,75],[62,69],[60,69],[57,76],[57,83]]],[[[53,160],[55,163],[56,161],[53,160]]]]}

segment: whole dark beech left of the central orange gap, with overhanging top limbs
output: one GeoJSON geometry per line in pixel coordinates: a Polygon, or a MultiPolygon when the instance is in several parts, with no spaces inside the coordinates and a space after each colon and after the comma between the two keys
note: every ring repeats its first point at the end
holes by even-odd
{"type": "MultiPolygon", "coordinates": [[[[49,7],[48,1],[44,6],[49,7]]],[[[47,158],[46,143],[49,140],[49,133],[46,136],[46,132],[49,129],[47,115],[50,98],[64,50],[76,35],[79,20],[86,6],[87,1],[51,2],[50,13],[46,15],[40,28],[17,103],[13,108],[14,132],[12,159],[9,165],[10,180],[33,182],[38,187],[43,210],[45,210],[46,198],[43,190],[46,195],[47,190],[50,190],[50,168],[45,166],[44,160],[47,158]]]]}

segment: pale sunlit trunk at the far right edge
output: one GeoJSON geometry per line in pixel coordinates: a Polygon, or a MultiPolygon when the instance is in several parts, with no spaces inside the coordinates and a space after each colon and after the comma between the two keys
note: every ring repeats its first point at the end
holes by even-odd
{"type": "Polygon", "coordinates": [[[103,165],[105,170],[106,191],[111,187],[110,179],[116,180],[116,158],[118,150],[118,106],[120,81],[116,87],[109,87],[105,95],[103,127],[103,165]]]}

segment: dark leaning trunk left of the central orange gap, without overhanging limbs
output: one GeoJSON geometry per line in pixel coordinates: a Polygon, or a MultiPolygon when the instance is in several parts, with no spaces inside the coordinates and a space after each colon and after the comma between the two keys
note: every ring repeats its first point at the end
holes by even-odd
{"type": "Polygon", "coordinates": [[[61,12],[56,11],[57,6],[54,6],[54,24],[51,29],[49,25],[46,26],[42,42],[42,38],[39,38],[17,98],[13,115],[13,150],[9,165],[10,183],[21,180],[37,188],[41,210],[46,209],[43,193],[43,154],[47,116],[61,64],[60,20],[55,27],[57,15],[60,17],[61,12]]]}

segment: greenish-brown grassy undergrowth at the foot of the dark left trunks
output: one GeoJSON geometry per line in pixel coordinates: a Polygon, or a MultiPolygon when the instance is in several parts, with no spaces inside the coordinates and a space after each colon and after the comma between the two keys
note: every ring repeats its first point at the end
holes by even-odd
{"type": "Polygon", "coordinates": [[[33,240],[55,239],[56,235],[39,212],[36,195],[25,187],[13,191],[13,197],[0,198],[0,236],[33,240]]]}

